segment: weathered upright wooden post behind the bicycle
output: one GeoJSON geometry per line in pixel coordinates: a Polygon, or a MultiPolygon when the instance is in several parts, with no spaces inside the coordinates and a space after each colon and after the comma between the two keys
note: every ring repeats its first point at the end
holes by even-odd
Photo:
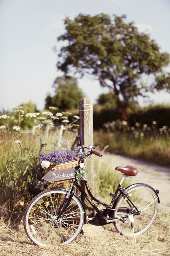
{"type": "MultiPolygon", "coordinates": [[[[80,115],[80,141],[81,145],[93,146],[93,105],[92,99],[82,99],[79,101],[80,115]]],[[[87,151],[87,150],[86,150],[87,151]]],[[[88,170],[88,184],[92,194],[95,193],[94,187],[94,163],[92,159],[86,158],[86,167],[88,170]]]]}

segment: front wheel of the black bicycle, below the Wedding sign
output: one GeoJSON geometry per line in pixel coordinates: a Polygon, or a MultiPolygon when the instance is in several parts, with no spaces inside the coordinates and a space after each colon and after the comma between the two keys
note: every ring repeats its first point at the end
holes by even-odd
{"type": "Polygon", "coordinates": [[[67,190],[56,188],[38,194],[27,207],[24,229],[36,245],[60,245],[72,242],[84,224],[84,209],[81,201],[73,195],[70,204],[57,219],[67,190]]]}

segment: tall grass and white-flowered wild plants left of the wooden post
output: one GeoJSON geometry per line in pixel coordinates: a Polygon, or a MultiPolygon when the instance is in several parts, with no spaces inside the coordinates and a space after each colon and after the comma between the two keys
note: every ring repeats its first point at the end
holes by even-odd
{"type": "MultiPolygon", "coordinates": [[[[33,179],[40,179],[45,172],[39,166],[39,152],[46,151],[49,142],[49,149],[52,147],[56,149],[58,140],[63,147],[67,147],[68,143],[72,143],[75,138],[75,127],[74,129],[72,127],[78,120],[78,116],[75,116],[69,125],[67,122],[63,123],[65,124],[63,129],[66,130],[64,134],[59,135],[61,132],[56,130],[52,138],[51,129],[54,127],[54,120],[62,117],[61,120],[68,121],[71,113],[57,112],[53,115],[56,108],[50,106],[49,109],[50,111],[41,113],[28,113],[27,106],[19,106],[13,109],[14,113],[10,116],[0,115],[0,120],[5,124],[0,126],[0,215],[13,223],[21,219],[26,204],[32,198],[28,189],[29,183],[33,179]],[[22,134],[22,128],[27,124],[28,118],[33,122],[36,120],[36,126],[34,126],[35,134],[29,134],[26,137],[26,134],[22,134]],[[70,135],[71,132],[73,136],[70,135]]],[[[67,153],[67,158],[70,159],[70,151],[67,153]]]]}

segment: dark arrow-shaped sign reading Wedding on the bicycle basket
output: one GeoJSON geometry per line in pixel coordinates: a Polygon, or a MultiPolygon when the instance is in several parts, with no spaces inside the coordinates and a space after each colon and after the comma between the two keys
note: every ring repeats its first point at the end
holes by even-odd
{"type": "Polygon", "coordinates": [[[75,168],[68,168],[63,170],[49,171],[43,176],[43,180],[48,182],[70,180],[75,178],[75,168]]]}

